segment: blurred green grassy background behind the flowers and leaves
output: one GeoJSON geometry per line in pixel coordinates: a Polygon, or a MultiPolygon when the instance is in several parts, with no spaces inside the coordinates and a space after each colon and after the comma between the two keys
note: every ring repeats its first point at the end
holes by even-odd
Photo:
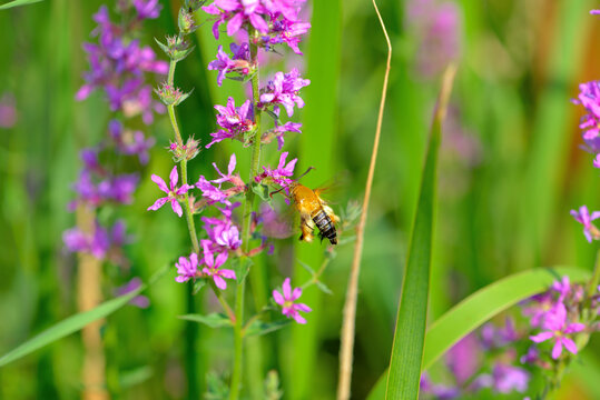
{"type": "MultiPolygon", "coordinates": [[[[61,233],[75,224],[66,208],[81,167],[78,150],[97,143],[110,118],[101,93],[75,100],[88,68],[81,43],[90,40],[91,16],[101,3],[47,0],[0,11],[0,98],[13,99],[17,111],[14,126],[0,128],[0,353],[77,312],[77,263],[63,250],[61,233]]],[[[153,38],[175,32],[179,8],[178,1],[161,3],[160,18],[146,22],[142,39],[156,50],[153,38]]],[[[316,167],[303,179],[306,186],[346,177],[329,199],[338,211],[363,196],[386,48],[370,1],[311,6],[313,29],[301,48],[312,84],[303,90],[303,133],[291,136],[286,150],[298,157],[297,171],[316,167]]],[[[361,272],[356,399],[366,396],[390,360],[405,248],[439,87],[439,76],[423,76],[415,62],[423,51],[422,37],[411,28],[405,6],[401,0],[380,1],[394,56],[361,272]]],[[[579,148],[578,121],[583,112],[569,101],[577,97],[579,82],[600,78],[596,40],[600,20],[589,16],[597,4],[464,0],[455,6],[460,61],[441,156],[431,319],[514,271],[555,264],[591,269],[593,249],[569,210],[583,203],[600,209],[598,173],[591,156],[579,148]]],[[[196,50],[178,66],[176,82],[195,90],[178,112],[184,137],[195,133],[207,143],[215,129],[213,104],[224,104],[228,96],[240,103],[244,92],[236,82],[217,87],[216,73],[206,70],[217,49],[210,23],[203,24],[194,39],[196,50]]],[[[269,71],[303,62],[297,56],[285,62],[273,59],[269,71]]],[[[164,116],[146,133],[157,140],[151,161],[135,201],[115,211],[136,238],[126,248],[131,273],[145,280],[189,251],[183,220],[165,210],[146,212],[158,193],[149,176],[166,177],[171,168],[164,148],[173,134],[164,116]]],[[[232,151],[246,177],[247,150],[223,142],[190,163],[190,179],[212,173],[213,161],[224,166],[232,151]]],[[[274,167],[277,160],[271,144],[263,163],[274,167]]],[[[296,260],[316,269],[322,249],[288,239],[273,257],[262,257],[260,270],[253,273],[267,289],[256,294],[257,301],[264,301],[268,288],[281,284],[282,276],[293,276],[295,284],[304,282],[307,273],[296,260]]],[[[315,287],[303,294],[314,310],[308,324],[248,342],[247,394],[259,393],[266,372],[276,369],[285,399],[334,397],[352,244],[336,251],[324,277],[333,294],[315,287]]],[[[110,298],[115,281],[121,283],[120,272],[105,267],[106,281],[99,284],[110,298]]],[[[206,389],[207,372],[228,373],[233,349],[225,329],[198,326],[196,351],[186,353],[185,323],[177,317],[186,313],[188,288],[175,283],[174,277],[175,268],[147,291],[148,309],[126,307],[102,328],[115,398],[187,398],[189,358],[198,362],[200,391],[206,389]]],[[[215,308],[207,293],[195,302],[199,311],[215,308]]],[[[598,394],[597,344],[592,339],[584,368],[574,367],[579,370],[565,382],[562,398],[598,394]]],[[[82,358],[81,338],[72,334],[1,368],[0,398],[79,398],[82,358]]]]}

